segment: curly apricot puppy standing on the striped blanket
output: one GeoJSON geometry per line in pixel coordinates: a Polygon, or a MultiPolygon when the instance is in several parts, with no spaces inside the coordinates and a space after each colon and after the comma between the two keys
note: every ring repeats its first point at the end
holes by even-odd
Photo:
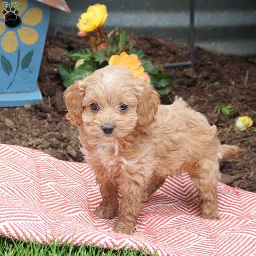
{"type": "Polygon", "coordinates": [[[188,172],[202,217],[217,220],[219,160],[239,154],[221,145],[215,125],[182,99],[160,105],[156,90],[124,67],[107,66],[64,92],[67,119],[79,129],[81,151],[96,173],[102,202],[95,214],[114,231],[132,234],[140,207],[168,175],[188,172]],[[121,195],[119,206],[118,192],[121,195]]]}

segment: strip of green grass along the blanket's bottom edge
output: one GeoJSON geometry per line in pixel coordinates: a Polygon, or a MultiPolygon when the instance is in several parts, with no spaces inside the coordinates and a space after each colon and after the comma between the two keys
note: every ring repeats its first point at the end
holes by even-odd
{"type": "MultiPolygon", "coordinates": [[[[50,245],[37,244],[35,241],[26,243],[0,237],[0,256],[143,256],[148,255],[145,249],[136,250],[109,250],[94,246],[73,246],[72,244],[59,245],[54,242],[50,245]]],[[[157,255],[157,254],[154,254],[157,255]]]]}

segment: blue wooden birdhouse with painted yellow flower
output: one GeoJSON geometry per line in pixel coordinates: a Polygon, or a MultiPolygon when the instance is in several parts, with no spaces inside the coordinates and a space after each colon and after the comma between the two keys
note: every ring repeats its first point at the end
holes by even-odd
{"type": "Polygon", "coordinates": [[[70,11],[64,0],[0,0],[0,107],[42,101],[37,80],[50,6],[70,11]]]}

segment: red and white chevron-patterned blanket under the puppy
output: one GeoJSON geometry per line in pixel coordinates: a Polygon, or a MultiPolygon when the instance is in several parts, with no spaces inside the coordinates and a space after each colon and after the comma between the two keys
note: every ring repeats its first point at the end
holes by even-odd
{"type": "Polygon", "coordinates": [[[144,204],[133,236],[93,214],[102,200],[93,170],[41,151],[0,144],[0,235],[47,243],[123,247],[158,255],[256,255],[256,193],[218,186],[221,221],[201,218],[187,175],[170,177],[144,204]]]}

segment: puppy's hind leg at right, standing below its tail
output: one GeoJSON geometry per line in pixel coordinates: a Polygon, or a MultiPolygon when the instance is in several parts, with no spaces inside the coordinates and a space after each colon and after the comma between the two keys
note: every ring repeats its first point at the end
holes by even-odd
{"type": "Polygon", "coordinates": [[[202,217],[218,220],[218,195],[217,185],[221,179],[218,159],[202,159],[197,163],[197,167],[189,172],[192,180],[198,189],[201,199],[202,217]]]}

